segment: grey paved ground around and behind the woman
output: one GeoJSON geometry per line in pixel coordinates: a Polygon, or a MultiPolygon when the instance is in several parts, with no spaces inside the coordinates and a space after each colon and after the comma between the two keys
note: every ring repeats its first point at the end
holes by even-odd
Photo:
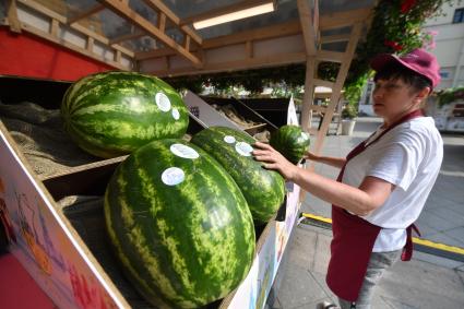
{"type": "MultiPolygon", "coordinates": [[[[328,136],[323,154],[346,155],[379,123],[377,118],[358,119],[352,136],[328,136]]],[[[464,247],[464,135],[443,134],[443,140],[444,162],[418,225],[424,238],[464,247]]],[[[337,174],[323,165],[316,170],[333,178],[337,174]]],[[[330,217],[330,205],[311,195],[302,211],[330,217]]],[[[335,300],[325,284],[331,239],[326,228],[302,224],[294,229],[270,308],[316,308],[322,300],[335,300]]],[[[464,308],[464,263],[416,251],[411,262],[398,262],[385,274],[372,308],[464,308]]]]}

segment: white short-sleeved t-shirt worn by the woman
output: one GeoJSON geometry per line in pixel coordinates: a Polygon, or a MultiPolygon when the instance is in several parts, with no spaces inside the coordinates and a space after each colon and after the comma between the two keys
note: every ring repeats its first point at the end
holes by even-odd
{"type": "Polygon", "coordinates": [[[344,183],[357,188],[365,177],[373,176],[395,186],[383,205],[362,216],[382,227],[373,252],[404,247],[405,228],[419,217],[442,159],[443,141],[433,119],[419,117],[393,128],[347,163],[344,183]]]}

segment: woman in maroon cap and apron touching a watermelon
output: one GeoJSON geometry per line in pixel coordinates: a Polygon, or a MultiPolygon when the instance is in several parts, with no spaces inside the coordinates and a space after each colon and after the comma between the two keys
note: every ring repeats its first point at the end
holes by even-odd
{"type": "MultiPolygon", "coordinates": [[[[440,82],[435,56],[416,49],[404,57],[379,55],[373,110],[383,124],[346,158],[308,158],[341,168],[336,181],[299,168],[270,145],[253,152],[316,197],[332,203],[331,260],[326,282],[341,308],[370,308],[373,287],[400,255],[412,255],[411,231],[437,179],[443,143],[430,117],[420,111],[440,82]],[[403,254],[402,254],[403,253],[403,254]]],[[[324,304],[319,308],[336,308],[324,304]]]]}

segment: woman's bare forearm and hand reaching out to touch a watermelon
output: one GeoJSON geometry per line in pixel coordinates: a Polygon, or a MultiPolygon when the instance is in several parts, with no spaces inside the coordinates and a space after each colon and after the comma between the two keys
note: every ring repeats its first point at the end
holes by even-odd
{"type": "Polygon", "coordinates": [[[265,168],[279,171],[306,191],[357,215],[367,215],[381,206],[394,189],[392,183],[376,177],[366,177],[359,188],[350,187],[293,165],[267,144],[257,143],[255,147],[253,155],[265,163],[265,168]]]}

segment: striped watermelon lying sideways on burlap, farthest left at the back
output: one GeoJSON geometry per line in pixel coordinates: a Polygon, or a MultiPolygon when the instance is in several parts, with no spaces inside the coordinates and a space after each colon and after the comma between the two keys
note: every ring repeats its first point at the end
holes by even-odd
{"type": "Polygon", "coordinates": [[[100,157],[131,153],[158,139],[180,138],[186,105],[162,80],[131,72],[85,76],[64,94],[61,115],[72,140],[100,157]]]}

